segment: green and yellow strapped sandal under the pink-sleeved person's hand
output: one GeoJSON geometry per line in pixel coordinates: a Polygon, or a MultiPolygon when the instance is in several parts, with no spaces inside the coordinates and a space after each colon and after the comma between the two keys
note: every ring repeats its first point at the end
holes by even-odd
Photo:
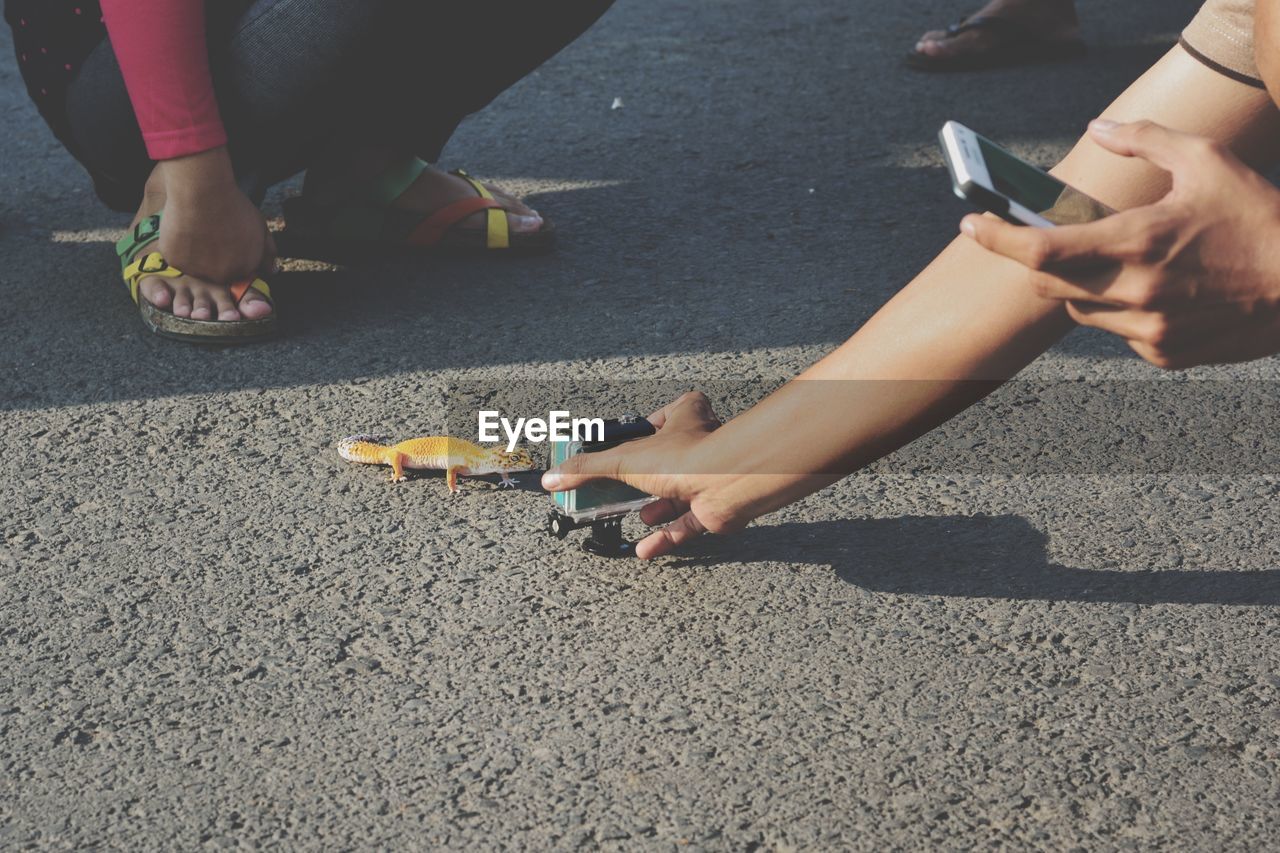
{"type": "MultiPolygon", "coordinates": [[[[248,343],[275,333],[275,311],[256,320],[193,320],[177,316],[173,311],[147,301],[147,297],[138,289],[143,278],[148,275],[163,278],[182,275],[182,272],[165,263],[160,252],[145,251],[157,240],[160,240],[160,214],[152,214],[115,243],[115,254],[120,256],[124,283],[128,286],[129,296],[133,297],[133,302],[138,306],[138,314],[148,329],[163,338],[192,343],[248,343]]],[[[230,292],[236,298],[236,305],[239,305],[251,289],[257,291],[266,297],[268,302],[271,302],[271,288],[262,279],[255,278],[232,284],[230,292]]],[[[274,307],[275,304],[271,302],[271,306],[274,307]]]]}

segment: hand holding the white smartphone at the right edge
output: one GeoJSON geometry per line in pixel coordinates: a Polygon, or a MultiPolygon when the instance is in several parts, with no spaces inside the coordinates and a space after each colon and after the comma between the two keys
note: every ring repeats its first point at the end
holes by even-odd
{"type": "Polygon", "coordinates": [[[1092,138],[1170,173],[1158,202],[1098,222],[1027,228],[970,215],[961,231],[1028,266],[1068,314],[1166,369],[1280,352],[1280,191],[1221,145],[1151,122],[1092,138]]]}

